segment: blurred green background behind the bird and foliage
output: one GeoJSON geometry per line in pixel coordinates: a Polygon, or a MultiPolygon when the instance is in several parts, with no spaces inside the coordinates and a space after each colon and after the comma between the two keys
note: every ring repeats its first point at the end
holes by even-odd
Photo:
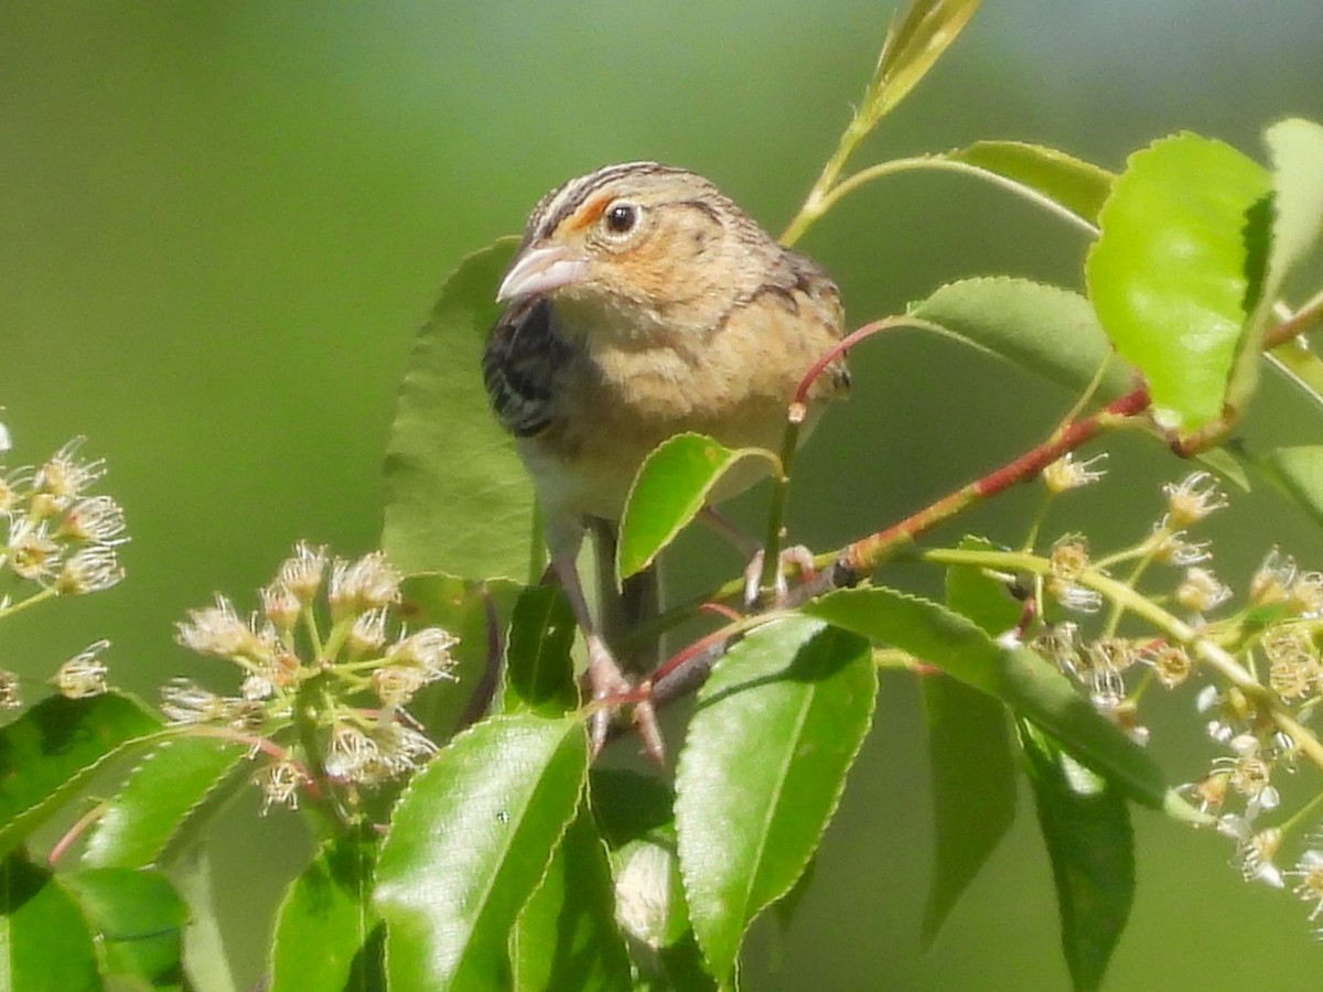
{"type": "MultiPolygon", "coordinates": [[[[520,229],[550,185],[636,157],[704,172],[779,229],[833,148],[890,9],[0,4],[11,464],[89,435],[134,536],[122,586],[7,623],[0,663],[42,676],[107,636],[118,682],[148,698],[180,672],[228,686],[220,664],[172,643],[172,623],[214,590],[251,606],[250,590],[299,538],[347,554],[374,545],[396,382],[456,261],[520,229]]],[[[1318,0],[1270,0],[1253,16],[1238,0],[990,3],[860,164],[1012,138],[1121,168],[1177,128],[1262,157],[1258,135],[1274,119],[1323,119],[1320,41],[1318,0]]],[[[963,275],[1078,286],[1085,243],[967,180],[906,176],[848,198],[802,247],[863,323],[963,275]]],[[[869,343],[855,368],[853,398],[800,463],[794,536],[816,546],[986,471],[1068,406],[916,335],[869,343]]],[[[1256,415],[1289,427],[1291,403],[1267,397],[1256,415]]],[[[1095,549],[1134,537],[1159,515],[1158,484],[1185,471],[1138,440],[1119,444],[1111,467],[1127,481],[1081,496],[1053,529],[1086,526],[1095,549]]],[[[1012,493],[960,526],[1013,540],[1031,496],[1012,493]]],[[[753,493],[741,509],[757,507],[753,493]]],[[[1241,586],[1274,542],[1323,565],[1318,536],[1271,492],[1238,497],[1216,536],[1217,567],[1241,586]]],[[[681,552],[671,574],[684,589],[736,566],[701,559],[697,542],[681,552]]],[[[933,587],[900,567],[889,578],[933,587]]],[[[1215,754],[1197,725],[1191,692],[1155,722],[1177,779],[1215,754]]],[[[755,929],[749,988],[1065,987],[1027,807],[937,946],[919,948],[922,735],[914,686],[884,680],[814,885],[789,932],[755,929]]],[[[262,967],[274,902],[307,852],[295,817],[254,825],[255,815],[246,798],[216,833],[243,980],[262,967]]],[[[1135,820],[1139,895],[1109,988],[1319,987],[1307,907],[1241,884],[1218,839],[1146,812],[1135,820]]]]}

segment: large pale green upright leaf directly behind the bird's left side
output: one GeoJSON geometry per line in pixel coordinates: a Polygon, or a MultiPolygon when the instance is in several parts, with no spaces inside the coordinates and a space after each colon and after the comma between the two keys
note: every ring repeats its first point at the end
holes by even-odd
{"type": "Polygon", "coordinates": [[[381,533],[382,550],[406,573],[528,571],[533,489],[482,376],[500,315],[496,284],[515,245],[503,238],[466,258],[414,340],[386,444],[381,533]]]}

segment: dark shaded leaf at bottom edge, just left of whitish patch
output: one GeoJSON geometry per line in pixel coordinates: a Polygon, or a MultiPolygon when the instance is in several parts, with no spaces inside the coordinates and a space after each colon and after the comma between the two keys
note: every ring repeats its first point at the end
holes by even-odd
{"type": "Polygon", "coordinates": [[[630,988],[606,848],[581,806],[512,938],[516,989],[630,988]]]}

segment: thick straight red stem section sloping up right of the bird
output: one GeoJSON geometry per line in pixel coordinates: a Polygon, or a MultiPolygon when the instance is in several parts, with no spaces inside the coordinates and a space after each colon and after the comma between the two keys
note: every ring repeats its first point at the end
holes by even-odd
{"type": "Polygon", "coordinates": [[[1091,417],[1065,425],[1049,440],[1025,451],[1019,458],[1000,468],[988,472],[968,485],[943,496],[937,503],[925,507],[918,513],[906,517],[885,530],[871,534],[844,548],[836,559],[839,567],[849,575],[867,575],[881,562],[896,554],[905,545],[913,544],[919,534],[931,530],[951,517],[962,513],[975,503],[996,496],[1017,483],[1025,483],[1039,476],[1044,468],[1074,451],[1094,438],[1099,430],[1117,419],[1125,419],[1148,409],[1148,390],[1140,386],[1115,399],[1091,417]]]}

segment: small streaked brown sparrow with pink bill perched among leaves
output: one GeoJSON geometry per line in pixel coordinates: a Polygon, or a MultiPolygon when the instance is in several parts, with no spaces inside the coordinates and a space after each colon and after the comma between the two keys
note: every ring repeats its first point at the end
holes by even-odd
{"type": "MultiPolygon", "coordinates": [[[[598,750],[606,702],[639,694],[617,660],[624,631],[613,627],[636,624],[639,603],[656,603],[654,575],[624,583],[631,611],[610,573],[639,467],[688,431],[733,448],[779,450],[800,380],[844,335],[840,292],[710,180],[627,161],[570,179],[537,202],[496,300],[504,310],[483,352],[483,380],[532,477],[550,571],[585,638],[589,689],[602,704],[598,750]],[[589,532],[598,542],[601,622],[577,569],[589,532]]],[[[848,386],[837,353],[807,393],[800,436],[848,386]]],[[[766,475],[758,459],[738,464],[744,471],[724,477],[709,503],[766,475]]],[[[659,754],[647,700],[634,721],[659,754]]]]}

